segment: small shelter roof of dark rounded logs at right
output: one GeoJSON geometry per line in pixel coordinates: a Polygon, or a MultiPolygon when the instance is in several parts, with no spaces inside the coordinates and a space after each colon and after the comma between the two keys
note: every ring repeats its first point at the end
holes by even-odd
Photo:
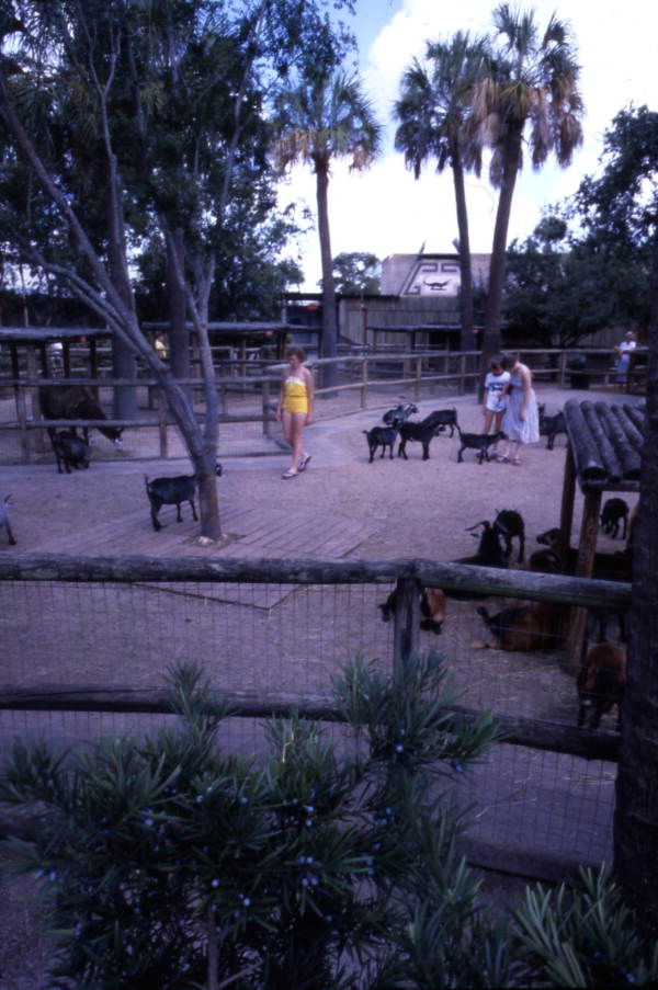
{"type": "Polygon", "coordinates": [[[580,490],[638,491],[644,411],[569,399],[564,414],[580,490]]]}

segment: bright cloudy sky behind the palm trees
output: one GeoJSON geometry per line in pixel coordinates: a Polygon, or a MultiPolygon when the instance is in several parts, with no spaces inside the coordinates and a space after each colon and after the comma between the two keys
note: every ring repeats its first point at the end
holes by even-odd
{"type": "MultiPolygon", "coordinates": [[[[355,0],[353,29],[359,39],[363,87],[378,121],[386,127],[383,153],[363,173],[350,173],[348,162],[337,161],[329,185],[331,251],[367,251],[389,254],[453,252],[457,236],[452,175],[438,175],[430,161],[419,180],[405,168],[393,148],[392,109],[399,82],[413,57],[424,55],[426,42],[449,38],[457,30],[473,34],[491,30],[494,0],[355,0]]],[[[658,110],[658,5],[646,0],[534,0],[522,4],[536,11],[543,29],[551,14],[570,23],[581,65],[580,90],[585,102],[583,144],[571,166],[559,169],[551,158],[540,172],[529,163],[517,183],[509,240],[532,234],[542,208],[574,193],[586,174],[598,171],[604,130],[615,114],[633,103],[658,110]]],[[[468,175],[467,198],[470,249],[488,253],[494,236],[497,191],[468,175]]],[[[308,167],[296,167],[280,191],[280,205],[305,203],[316,215],[315,177],[308,167]]],[[[320,260],[317,230],[299,241],[298,262],[305,273],[300,286],[317,292],[320,260]]]]}

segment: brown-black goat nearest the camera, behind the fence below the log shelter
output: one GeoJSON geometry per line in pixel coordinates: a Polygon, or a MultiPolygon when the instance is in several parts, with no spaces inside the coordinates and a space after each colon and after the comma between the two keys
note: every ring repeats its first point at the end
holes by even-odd
{"type": "Polygon", "coordinates": [[[578,727],[587,720],[590,729],[597,729],[601,717],[617,706],[616,728],[622,724],[622,701],[626,687],[626,650],[614,642],[598,642],[590,647],[578,673],[578,727]]]}

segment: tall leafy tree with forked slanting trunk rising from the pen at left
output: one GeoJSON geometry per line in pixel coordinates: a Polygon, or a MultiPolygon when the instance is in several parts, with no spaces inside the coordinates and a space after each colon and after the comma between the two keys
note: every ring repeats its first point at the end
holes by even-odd
{"type": "Polygon", "coordinates": [[[222,533],[207,335],[218,247],[231,203],[265,164],[262,139],[250,140],[263,132],[263,94],[314,44],[325,2],[12,0],[0,11],[3,151],[29,177],[24,208],[1,204],[4,229],[35,270],[67,283],[150,368],[198,477],[201,528],[211,537],[222,533]],[[92,163],[86,143],[69,138],[75,127],[76,137],[90,134],[92,163]],[[184,287],[197,332],[201,424],[133,304],[132,252],[145,224],[167,239],[170,282],[179,300],[184,287]]]}

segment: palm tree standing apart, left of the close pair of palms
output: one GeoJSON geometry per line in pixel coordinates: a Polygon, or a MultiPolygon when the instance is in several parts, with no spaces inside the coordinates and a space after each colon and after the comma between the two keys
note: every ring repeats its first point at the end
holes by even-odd
{"type": "MultiPolygon", "coordinates": [[[[367,168],[379,150],[381,126],[355,76],[341,70],[315,72],[283,91],[276,101],[274,160],[281,169],[305,162],[316,174],[318,234],[322,266],[324,357],[338,351],[338,321],[333,263],[329,231],[329,175],[334,158],[351,157],[351,169],[367,168]]],[[[324,385],[336,384],[336,365],[329,365],[324,385]]]]}

